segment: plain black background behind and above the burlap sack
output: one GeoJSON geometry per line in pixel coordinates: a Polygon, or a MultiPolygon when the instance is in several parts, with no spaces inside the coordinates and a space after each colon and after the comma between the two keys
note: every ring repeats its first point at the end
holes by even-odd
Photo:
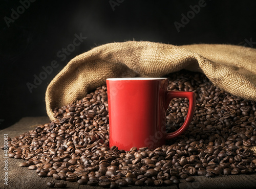
{"type": "Polygon", "coordinates": [[[47,115],[45,91],[50,81],[70,59],[100,44],[143,40],[256,47],[255,1],[205,0],[206,6],[179,32],[174,22],[182,23],[181,14],[187,15],[199,1],[27,2],[1,0],[0,128],[24,116],[47,115]],[[24,10],[21,2],[26,2],[24,10]],[[12,19],[13,10],[23,13],[12,19]],[[12,21],[7,23],[7,17],[12,21]],[[66,58],[58,56],[73,43],[75,34],[87,38],[66,58]],[[27,84],[34,84],[35,75],[44,72],[42,66],[54,60],[58,66],[31,92],[27,84]]]}

